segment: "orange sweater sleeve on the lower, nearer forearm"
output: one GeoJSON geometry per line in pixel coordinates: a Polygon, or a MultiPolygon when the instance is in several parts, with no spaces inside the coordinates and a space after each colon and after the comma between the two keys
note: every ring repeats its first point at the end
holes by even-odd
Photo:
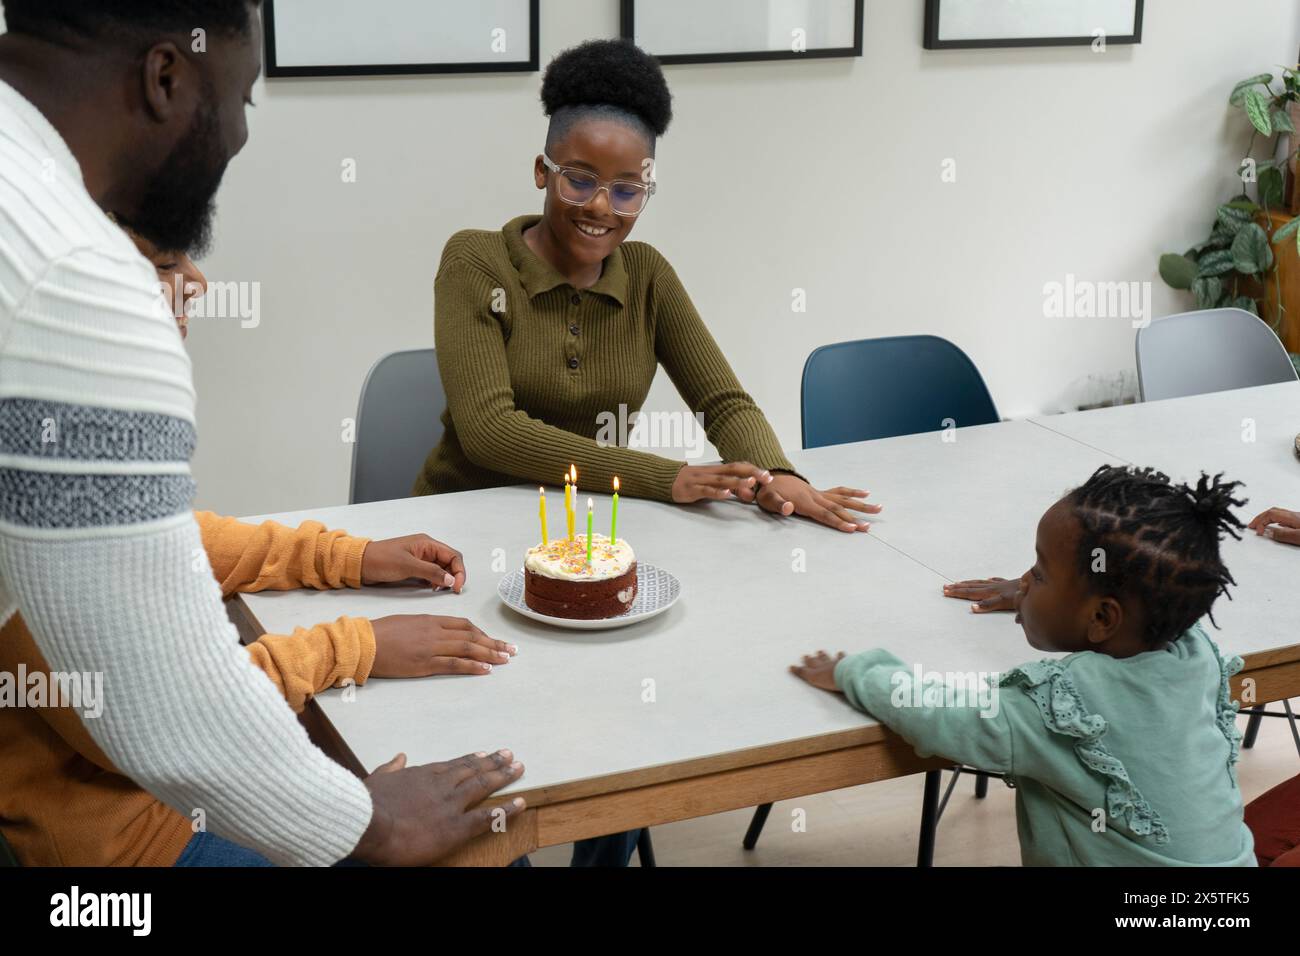
{"type": "Polygon", "coordinates": [[[263,635],[248,654],[300,713],[321,691],[348,680],[365,683],[374,665],[374,628],[365,618],[339,618],[291,635],[263,635]]]}

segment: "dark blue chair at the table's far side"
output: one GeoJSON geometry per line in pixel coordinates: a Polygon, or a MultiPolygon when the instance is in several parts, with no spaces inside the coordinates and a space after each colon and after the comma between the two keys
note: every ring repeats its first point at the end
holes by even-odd
{"type": "MultiPolygon", "coordinates": [[[[805,449],[1001,420],[975,363],[937,336],[864,338],[822,346],[803,364],[800,397],[805,449]]],[[[942,773],[926,773],[918,866],[933,861],[939,818],[961,775],[975,777],[976,797],[988,795],[989,777],[1001,778],[985,770],[953,767],[953,779],[940,800],[942,773]]],[[[755,808],[741,844],[745,849],[758,844],[771,810],[771,804],[755,808]]]]}

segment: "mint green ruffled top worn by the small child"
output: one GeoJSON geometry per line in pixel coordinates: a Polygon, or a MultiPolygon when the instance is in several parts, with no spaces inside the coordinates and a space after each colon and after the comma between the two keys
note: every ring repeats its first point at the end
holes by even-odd
{"type": "Polygon", "coordinates": [[[959,678],[887,650],[846,657],[835,683],[919,754],[1006,774],[1026,866],[1254,866],[1236,784],[1240,734],[1225,661],[1197,624],[1158,650],[1082,652],[959,678]]]}

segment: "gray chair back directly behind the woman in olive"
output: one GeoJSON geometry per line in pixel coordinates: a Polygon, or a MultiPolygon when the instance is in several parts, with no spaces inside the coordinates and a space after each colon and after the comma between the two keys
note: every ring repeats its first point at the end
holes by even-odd
{"type": "Polygon", "coordinates": [[[385,355],[361,385],[348,501],[410,498],[429,453],[442,441],[442,392],[433,349],[385,355]]]}

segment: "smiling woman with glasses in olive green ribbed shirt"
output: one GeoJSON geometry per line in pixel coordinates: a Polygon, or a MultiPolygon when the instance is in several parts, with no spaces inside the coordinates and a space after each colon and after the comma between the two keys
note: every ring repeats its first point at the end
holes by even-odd
{"type": "MultiPolygon", "coordinates": [[[[546,200],[500,232],[451,237],[434,285],[442,442],[416,494],[528,481],[689,503],[755,502],[844,532],[866,531],[867,493],[816,490],[796,472],[668,261],[627,242],[655,193],[655,140],[672,118],[658,62],[592,40],[546,70],[546,150],[533,176],[546,200]],[[682,464],[603,440],[634,415],[663,365],[725,464],[682,464]]],[[[737,276],[736,281],[742,281],[737,276]]]]}

